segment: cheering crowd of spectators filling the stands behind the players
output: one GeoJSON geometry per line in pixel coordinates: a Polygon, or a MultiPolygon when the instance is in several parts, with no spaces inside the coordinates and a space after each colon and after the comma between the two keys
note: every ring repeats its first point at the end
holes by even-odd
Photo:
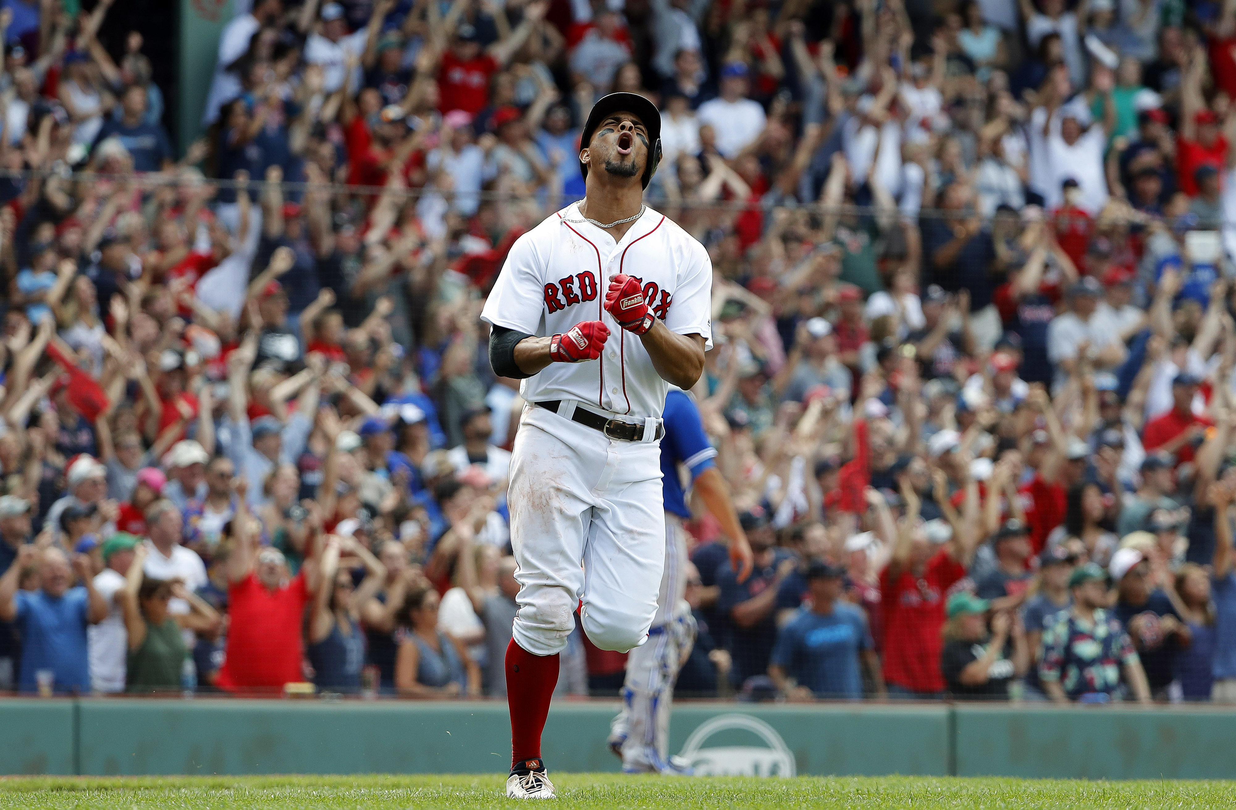
{"type": "Polygon", "coordinates": [[[503,695],[478,313],[625,90],[755,553],[691,522],[679,694],[1236,702],[1236,0],[251,0],[178,162],[70,6],[0,2],[0,690],[503,695]]]}

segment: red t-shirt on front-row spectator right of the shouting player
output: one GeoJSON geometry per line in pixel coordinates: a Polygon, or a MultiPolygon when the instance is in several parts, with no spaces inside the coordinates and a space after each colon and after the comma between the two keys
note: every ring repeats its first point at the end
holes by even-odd
{"type": "Polygon", "coordinates": [[[894,580],[880,573],[884,602],[884,680],[916,693],[944,691],[939,653],[944,639],[948,589],[965,576],[965,566],[941,549],[922,576],[902,569],[894,580]]]}

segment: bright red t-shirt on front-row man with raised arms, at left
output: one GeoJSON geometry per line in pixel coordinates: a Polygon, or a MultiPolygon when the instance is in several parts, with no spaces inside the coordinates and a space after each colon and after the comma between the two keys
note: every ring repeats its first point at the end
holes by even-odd
{"type": "Polygon", "coordinates": [[[283,684],[304,680],[300,631],[309,602],[304,573],[276,591],[250,574],[232,584],[227,601],[227,653],[216,685],[227,691],[281,691],[283,684]]]}

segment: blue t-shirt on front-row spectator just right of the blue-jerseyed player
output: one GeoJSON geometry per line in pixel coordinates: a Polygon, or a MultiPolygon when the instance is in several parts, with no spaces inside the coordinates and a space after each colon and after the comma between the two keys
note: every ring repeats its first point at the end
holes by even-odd
{"type": "Polygon", "coordinates": [[[827,616],[808,608],[800,611],[781,628],[771,663],[816,697],[859,699],[863,674],[858,654],[873,647],[863,611],[838,601],[827,616]]]}

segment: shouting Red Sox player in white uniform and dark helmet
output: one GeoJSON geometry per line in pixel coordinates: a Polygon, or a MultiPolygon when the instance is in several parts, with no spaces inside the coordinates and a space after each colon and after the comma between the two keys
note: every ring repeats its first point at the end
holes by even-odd
{"type": "Polygon", "coordinates": [[[661,117],[614,93],[581,134],[585,199],[515,241],[485,303],[489,362],[527,401],[510,459],[519,581],[507,647],[507,795],[551,798],[541,731],[580,608],[601,649],[648,638],[665,558],[661,408],[711,345],[703,246],[643,204],[661,117]]]}

